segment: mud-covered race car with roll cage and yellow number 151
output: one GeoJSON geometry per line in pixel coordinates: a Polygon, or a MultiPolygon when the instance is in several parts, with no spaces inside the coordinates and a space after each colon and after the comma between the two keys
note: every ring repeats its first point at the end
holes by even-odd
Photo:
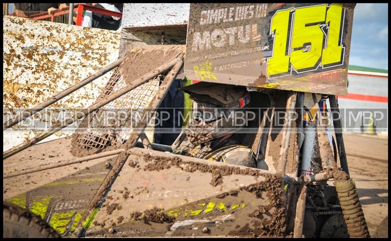
{"type": "Polygon", "coordinates": [[[115,72],[92,106],[3,153],[3,201],[33,213],[4,202],[3,235],[369,237],[341,121],[328,123],[334,133],[320,121],[325,94],[333,117],[335,95],[347,94],[353,8],[191,4],[186,49],[133,47],[109,65],[115,72]],[[183,132],[171,146],[151,142],[152,116],[92,121],[110,108],[154,112],[183,63],[193,84],[248,89],[257,115],[242,144],[263,168],[173,154],[183,132]],[[35,144],[77,120],[72,138],[35,144]]]}

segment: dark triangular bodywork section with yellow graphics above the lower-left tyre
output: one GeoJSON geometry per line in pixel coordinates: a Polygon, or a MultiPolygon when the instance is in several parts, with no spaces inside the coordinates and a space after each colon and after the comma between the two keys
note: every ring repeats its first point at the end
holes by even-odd
{"type": "Polygon", "coordinates": [[[63,237],[68,237],[87,210],[90,199],[106,176],[104,161],[65,178],[11,197],[7,201],[40,216],[63,237]]]}

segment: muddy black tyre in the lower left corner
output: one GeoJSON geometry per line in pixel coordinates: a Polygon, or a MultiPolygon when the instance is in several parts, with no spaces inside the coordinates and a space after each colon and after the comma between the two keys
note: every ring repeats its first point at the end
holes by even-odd
{"type": "Polygon", "coordinates": [[[3,238],[61,238],[37,215],[3,202],[3,238]]]}

